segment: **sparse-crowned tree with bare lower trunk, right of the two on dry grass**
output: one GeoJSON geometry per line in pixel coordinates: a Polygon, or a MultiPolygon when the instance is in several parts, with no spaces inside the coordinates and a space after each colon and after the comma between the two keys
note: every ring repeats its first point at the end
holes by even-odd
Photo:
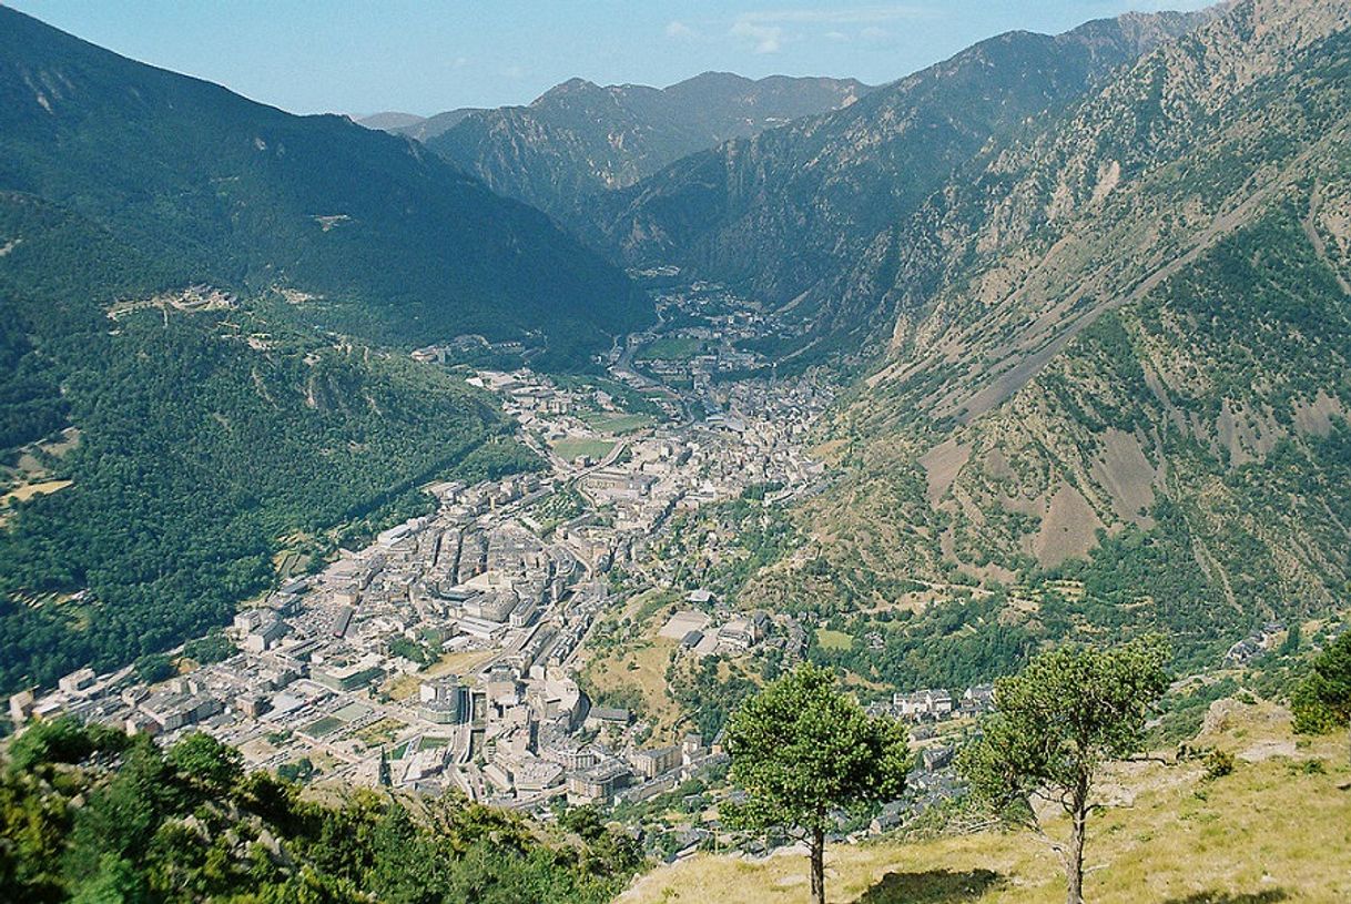
{"type": "Polygon", "coordinates": [[[1063,646],[994,684],[996,712],[958,759],[977,801],[1043,838],[1065,863],[1069,904],[1084,901],[1084,845],[1093,782],[1102,766],[1144,747],[1144,723],[1169,686],[1167,647],[1156,639],[1115,649],[1063,646]],[[1038,801],[1070,818],[1052,839],[1038,801]]]}

